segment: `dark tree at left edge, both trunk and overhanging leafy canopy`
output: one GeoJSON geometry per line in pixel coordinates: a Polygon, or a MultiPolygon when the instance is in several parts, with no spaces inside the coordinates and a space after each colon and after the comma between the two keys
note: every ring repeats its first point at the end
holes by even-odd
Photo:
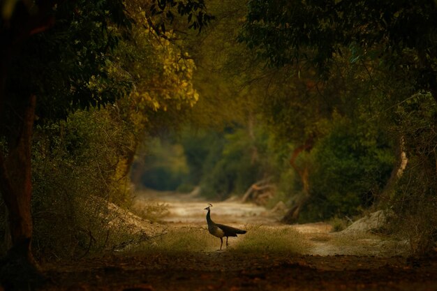
{"type": "MultiPolygon", "coordinates": [[[[202,7],[197,11],[203,13],[202,7]]],[[[131,24],[120,0],[3,1],[0,192],[8,208],[12,248],[1,271],[14,269],[11,264],[15,269],[36,266],[30,207],[34,120],[64,118],[77,108],[126,96],[131,83],[117,82],[117,75],[111,74],[111,52],[122,36],[128,36],[131,24]],[[117,28],[124,33],[117,34],[117,28]]],[[[14,284],[9,275],[2,276],[3,284],[14,284]]]]}

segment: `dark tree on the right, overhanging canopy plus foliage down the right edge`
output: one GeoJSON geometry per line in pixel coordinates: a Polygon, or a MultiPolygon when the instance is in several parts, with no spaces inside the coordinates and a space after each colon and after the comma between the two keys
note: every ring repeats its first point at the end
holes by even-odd
{"type": "MultiPolygon", "coordinates": [[[[316,68],[313,80],[323,85],[320,95],[326,97],[332,89],[341,88],[331,96],[345,99],[343,105],[353,105],[351,113],[365,112],[377,120],[392,139],[387,144],[397,144],[392,147],[400,153],[392,171],[396,179],[389,179],[387,184],[392,185],[385,187],[390,193],[380,199],[387,199],[383,204],[394,207],[399,216],[410,217],[406,221],[435,221],[435,211],[423,205],[435,205],[437,189],[436,158],[431,154],[435,152],[437,2],[255,0],[248,7],[239,40],[269,66],[295,66],[296,74],[304,76],[302,72],[316,68]],[[349,67],[355,67],[355,72],[349,67]],[[338,78],[338,73],[347,76],[348,72],[352,78],[338,78]],[[333,86],[336,80],[345,81],[339,84],[346,86],[333,86]]],[[[334,137],[329,133],[325,142],[329,136],[334,137]]],[[[421,227],[428,228],[421,231],[423,235],[410,236],[412,249],[435,244],[435,227],[429,223],[421,227]]]]}

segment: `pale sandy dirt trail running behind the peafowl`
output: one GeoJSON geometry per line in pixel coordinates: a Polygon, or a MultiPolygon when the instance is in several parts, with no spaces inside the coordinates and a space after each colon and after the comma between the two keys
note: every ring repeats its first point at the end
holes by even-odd
{"type": "MultiPolygon", "coordinates": [[[[206,211],[209,201],[195,193],[184,194],[172,191],[147,191],[138,193],[136,198],[140,202],[165,204],[168,214],[160,218],[169,227],[195,226],[206,228],[206,211]]],[[[399,255],[387,248],[383,237],[365,234],[343,234],[332,232],[332,225],[328,223],[304,223],[284,225],[281,223],[282,214],[272,212],[265,207],[253,203],[239,202],[231,197],[223,202],[214,202],[212,219],[216,223],[223,223],[244,228],[247,225],[267,226],[276,228],[292,228],[304,234],[311,242],[311,247],[305,255],[399,255]],[[341,244],[341,241],[354,239],[353,244],[341,244]]],[[[230,241],[235,238],[230,238],[230,241]]]]}

